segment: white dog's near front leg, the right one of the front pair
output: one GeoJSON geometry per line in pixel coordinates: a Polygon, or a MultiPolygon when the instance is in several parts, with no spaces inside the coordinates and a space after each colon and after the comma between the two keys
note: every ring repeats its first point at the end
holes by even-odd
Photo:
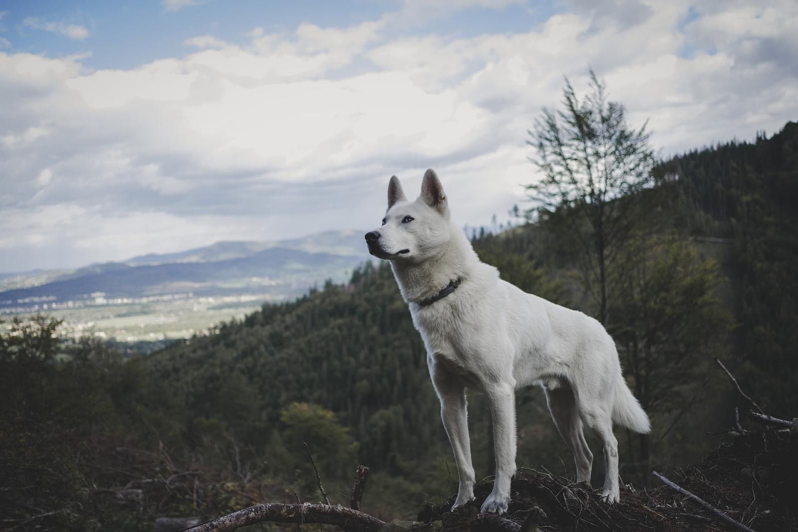
{"type": "Polygon", "coordinates": [[[504,514],[510,503],[510,481],[516,474],[516,392],[507,383],[493,384],[485,392],[493,418],[496,480],[482,511],[504,514]]]}

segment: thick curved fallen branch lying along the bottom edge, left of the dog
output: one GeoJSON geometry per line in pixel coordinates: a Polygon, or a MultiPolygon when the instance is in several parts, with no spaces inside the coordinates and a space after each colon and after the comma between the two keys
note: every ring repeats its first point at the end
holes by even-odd
{"type": "Polygon", "coordinates": [[[187,532],[225,532],[256,522],[314,522],[336,525],[347,532],[373,532],[385,522],[345,506],[329,504],[284,504],[270,502],[250,506],[232,514],[189,528],[187,532]]]}

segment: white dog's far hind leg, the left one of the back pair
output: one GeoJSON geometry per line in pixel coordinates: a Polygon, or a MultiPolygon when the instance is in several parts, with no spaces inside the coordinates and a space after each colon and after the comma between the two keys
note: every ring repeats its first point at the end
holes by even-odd
{"type": "Polygon", "coordinates": [[[583,433],[582,420],[576,409],[576,400],[571,386],[563,382],[559,388],[547,389],[546,402],[551,412],[551,418],[563,436],[565,443],[574,453],[576,463],[576,482],[590,485],[591,469],[593,467],[593,453],[587,447],[587,440],[583,433]]]}

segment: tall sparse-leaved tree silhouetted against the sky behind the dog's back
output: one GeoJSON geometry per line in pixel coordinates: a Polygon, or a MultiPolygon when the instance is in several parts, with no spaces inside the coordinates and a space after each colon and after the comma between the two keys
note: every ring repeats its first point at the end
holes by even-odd
{"type": "Polygon", "coordinates": [[[577,97],[565,80],[563,109],[543,108],[527,144],[530,160],[543,173],[527,192],[541,215],[562,215],[581,246],[588,291],[606,324],[608,275],[612,251],[634,227],[632,201],[652,182],[654,151],[646,124],[633,129],[626,108],[607,100],[606,85],[590,71],[590,89],[577,97]]]}

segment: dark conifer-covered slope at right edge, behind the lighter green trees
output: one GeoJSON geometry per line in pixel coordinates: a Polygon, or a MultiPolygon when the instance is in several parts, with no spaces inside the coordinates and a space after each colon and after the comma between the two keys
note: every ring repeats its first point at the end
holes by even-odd
{"type": "Polygon", "coordinates": [[[741,379],[774,412],[798,412],[798,123],[769,139],[689,152],[659,171],[684,201],[676,223],[730,240],[741,379]]]}

